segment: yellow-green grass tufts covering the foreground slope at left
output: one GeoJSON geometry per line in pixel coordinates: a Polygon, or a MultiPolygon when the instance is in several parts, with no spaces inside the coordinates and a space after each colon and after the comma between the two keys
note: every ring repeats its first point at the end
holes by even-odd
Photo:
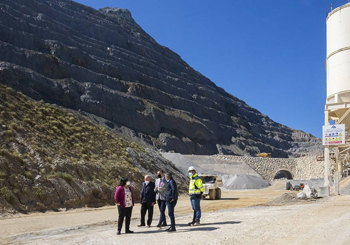
{"type": "Polygon", "coordinates": [[[57,180],[70,186],[74,180],[101,182],[111,189],[122,176],[139,184],[143,179],[126,151],[144,152],[138,144],[77,112],[36,102],[1,84],[0,143],[0,197],[26,206],[22,209],[31,205],[30,195],[46,205],[57,180]]]}

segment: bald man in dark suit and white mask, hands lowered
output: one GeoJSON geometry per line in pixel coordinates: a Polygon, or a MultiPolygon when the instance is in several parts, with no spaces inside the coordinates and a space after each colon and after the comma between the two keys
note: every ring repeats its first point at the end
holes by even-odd
{"type": "Polygon", "coordinates": [[[138,226],[146,226],[145,216],[148,212],[147,227],[151,227],[153,218],[153,207],[155,204],[154,182],[151,181],[149,175],[145,176],[145,182],[142,183],[141,190],[141,224],[138,226]]]}

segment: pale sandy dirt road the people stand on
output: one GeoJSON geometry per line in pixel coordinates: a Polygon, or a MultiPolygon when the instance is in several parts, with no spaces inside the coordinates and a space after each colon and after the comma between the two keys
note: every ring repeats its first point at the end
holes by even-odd
{"type": "MultiPolygon", "coordinates": [[[[350,196],[332,196],[299,205],[253,206],[288,191],[279,188],[223,191],[221,200],[203,200],[201,226],[190,227],[187,197],[175,207],[176,229],[138,228],[140,205],[133,209],[133,234],[116,236],[115,206],[77,209],[0,219],[5,244],[349,244],[350,196]],[[345,227],[345,228],[344,228],[345,227]]],[[[168,223],[170,223],[167,217],[168,223]]],[[[124,228],[124,226],[123,226],[124,228]]]]}

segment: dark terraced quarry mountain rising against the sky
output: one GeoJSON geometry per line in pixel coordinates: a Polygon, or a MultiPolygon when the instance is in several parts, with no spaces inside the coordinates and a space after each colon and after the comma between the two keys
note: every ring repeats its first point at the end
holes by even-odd
{"type": "MultiPolygon", "coordinates": [[[[274,122],[158,44],[127,9],[0,2],[0,83],[182,154],[297,157],[321,140],[274,122]]],[[[239,81],[241,82],[241,81],[239,81]]]]}

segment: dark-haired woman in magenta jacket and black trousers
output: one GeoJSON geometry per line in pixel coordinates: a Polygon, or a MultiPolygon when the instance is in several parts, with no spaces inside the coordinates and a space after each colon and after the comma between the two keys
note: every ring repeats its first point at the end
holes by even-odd
{"type": "Polygon", "coordinates": [[[120,235],[124,217],[125,233],[133,233],[133,231],[130,230],[130,220],[132,207],[134,206],[134,197],[132,195],[131,187],[129,186],[129,184],[130,182],[126,177],[121,178],[120,184],[116,190],[116,194],[114,194],[114,200],[116,200],[119,215],[117,235],[120,235]]]}

